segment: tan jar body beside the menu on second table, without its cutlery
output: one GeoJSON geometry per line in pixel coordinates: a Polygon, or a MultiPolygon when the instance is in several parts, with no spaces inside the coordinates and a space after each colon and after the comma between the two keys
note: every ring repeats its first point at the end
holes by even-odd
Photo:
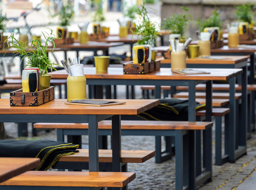
{"type": "Polygon", "coordinates": [[[172,51],[171,52],[171,70],[185,69],[186,66],[186,52],[172,51]]]}

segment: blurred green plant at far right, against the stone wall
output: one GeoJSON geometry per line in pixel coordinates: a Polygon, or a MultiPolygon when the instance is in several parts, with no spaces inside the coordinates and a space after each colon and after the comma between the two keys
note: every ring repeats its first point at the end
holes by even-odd
{"type": "Polygon", "coordinates": [[[235,8],[235,16],[239,21],[248,22],[249,24],[252,22],[254,13],[252,12],[252,6],[249,3],[235,6],[235,8]]]}

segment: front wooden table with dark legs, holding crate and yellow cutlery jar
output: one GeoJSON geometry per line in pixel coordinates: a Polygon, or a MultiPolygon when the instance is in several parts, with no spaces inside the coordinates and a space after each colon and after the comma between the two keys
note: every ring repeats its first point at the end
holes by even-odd
{"type": "Polygon", "coordinates": [[[0,99],[0,122],[15,123],[88,123],[89,171],[99,171],[98,122],[112,117],[113,171],[120,172],[121,115],[136,115],[159,104],[159,100],[116,100],[126,104],[115,106],[79,106],[57,99],[40,106],[10,106],[9,99],[0,99]]]}

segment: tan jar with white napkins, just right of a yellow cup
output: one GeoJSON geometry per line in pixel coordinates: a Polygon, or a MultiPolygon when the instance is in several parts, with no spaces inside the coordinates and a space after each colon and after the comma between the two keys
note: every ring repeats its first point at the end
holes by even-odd
{"type": "Polygon", "coordinates": [[[198,40],[199,45],[199,56],[210,56],[211,55],[211,42],[210,42],[211,33],[201,32],[200,38],[198,40]]]}

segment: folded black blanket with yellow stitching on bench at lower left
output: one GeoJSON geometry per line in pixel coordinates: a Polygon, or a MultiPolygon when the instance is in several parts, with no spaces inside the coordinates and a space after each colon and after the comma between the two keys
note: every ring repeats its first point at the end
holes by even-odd
{"type": "Polygon", "coordinates": [[[40,158],[35,170],[48,170],[61,156],[76,152],[78,145],[49,140],[0,140],[0,157],[40,158]]]}

